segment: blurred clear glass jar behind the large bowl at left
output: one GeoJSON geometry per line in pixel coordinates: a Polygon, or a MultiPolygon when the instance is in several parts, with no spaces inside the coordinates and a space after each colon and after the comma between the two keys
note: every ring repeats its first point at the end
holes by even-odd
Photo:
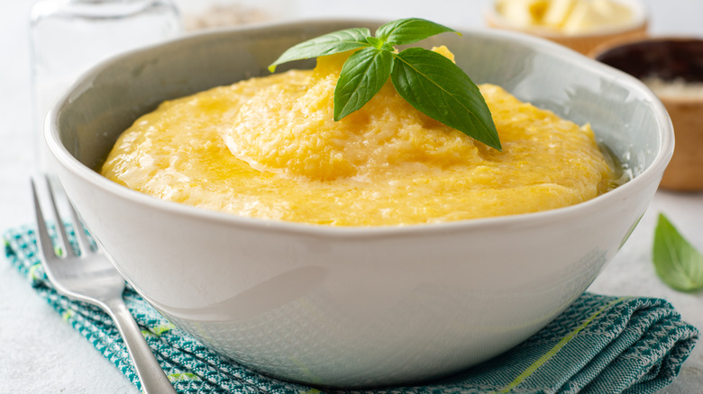
{"type": "Polygon", "coordinates": [[[119,52],[178,36],[170,0],[38,0],[30,14],[36,170],[49,172],[44,118],[89,67],[119,52]]]}

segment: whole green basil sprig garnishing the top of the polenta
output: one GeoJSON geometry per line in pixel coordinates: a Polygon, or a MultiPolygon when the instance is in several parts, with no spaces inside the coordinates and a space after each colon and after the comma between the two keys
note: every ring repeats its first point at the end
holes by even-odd
{"type": "Polygon", "coordinates": [[[289,48],[271,63],[269,71],[292,60],[356,50],[342,66],[334,88],[334,121],[361,109],[390,77],[397,93],[418,111],[501,150],[488,105],[460,67],[432,50],[397,52],[394,48],[443,32],[459,34],[418,18],[388,22],[379,27],[375,37],[365,28],[334,31],[289,48]]]}

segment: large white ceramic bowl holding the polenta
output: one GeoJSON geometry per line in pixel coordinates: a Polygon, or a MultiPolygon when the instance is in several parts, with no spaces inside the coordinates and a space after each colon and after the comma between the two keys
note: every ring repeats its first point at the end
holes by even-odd
{"type": "Polygon", "coordinates": [[[559,210],[328,228],[160,201],[94,170],[118,134],[157,103],[267,75],[289,46],[361,25],[378,23],[213,31],[113,58],[73,86],[47,128],[68,196],[136,291],[222,354],[326,386],[434,379],[533,335],[616,254],[673,149],[667,113],[635,78],[546,40],[463,31],[427,45],[446,43],[477,83],[590,122],[635,178],[559,210]]]}

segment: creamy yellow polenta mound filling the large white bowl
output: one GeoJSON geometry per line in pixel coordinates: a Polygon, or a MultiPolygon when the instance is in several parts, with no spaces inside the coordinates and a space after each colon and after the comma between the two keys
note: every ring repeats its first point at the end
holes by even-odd
{"type": "Polygon", "coordinates": [[[588,125],[496,85],[480,89],[502,152],[416,111],[390,82],[335,122],[346,56],[162,103],[123,132],[102,174],[207,210],[334,226],[550,210],[614,187],[588,125]]]}

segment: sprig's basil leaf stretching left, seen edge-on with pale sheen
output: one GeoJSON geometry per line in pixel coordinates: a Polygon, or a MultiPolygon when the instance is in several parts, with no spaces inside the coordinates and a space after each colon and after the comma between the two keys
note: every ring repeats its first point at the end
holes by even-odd
{"type": "Polygon", "coordinates": [[[301,58],[317,58],[370,46],[366,38],[370,36],[369,29],[353,28],[333,31],[311,40],[303,41],[288,48],[281,56],[269,65],[269,71],[274,72],[276,66],[288,61],[301,58]]]}

